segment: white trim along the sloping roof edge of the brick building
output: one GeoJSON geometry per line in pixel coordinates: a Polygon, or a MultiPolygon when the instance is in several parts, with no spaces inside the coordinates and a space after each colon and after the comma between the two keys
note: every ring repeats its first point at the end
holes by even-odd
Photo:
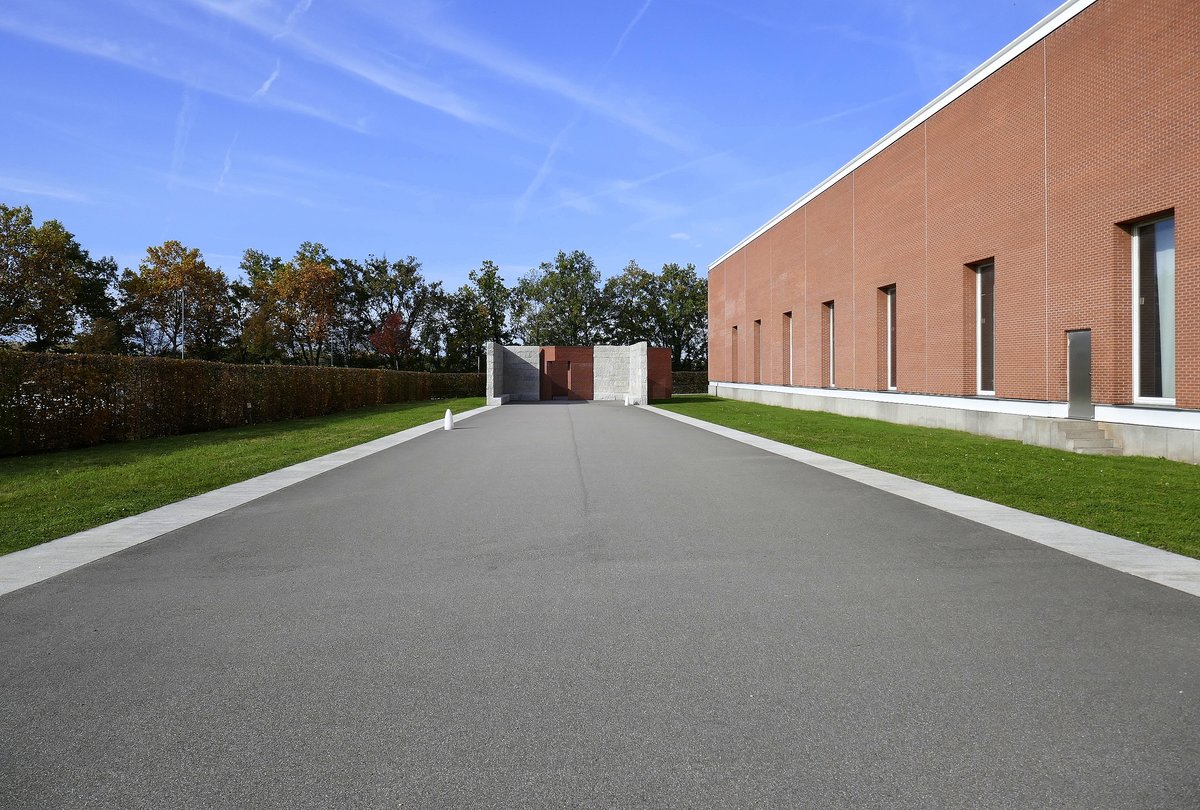
{"type": "Polygon", "coordinates": [[[784,209],[774,217],[772,217],[761,228],[758,228],[752,234],[743,239],[740,242],[727,250],[725,253],[721,254],[721,258],[709,264],[708,269],[713,270],[721,262],[725,262],[731,256],[740,251],[743,247],[745,247],[754,240],[758,239],[758,236],[770,230],[787,216],[794,214],[797,210],[799,210],[806,203],[809,203],[812,198],[821,194],[821,192],[826,191],[832,185],[834,185],[835,182],[848,175],[851,172],[857,169],[859,166],[862,166],[863,163],[871,160],[881,151],[890,146],[901,137],[904,137],[912,130],[917,128],[918,125],[924,124],[926,120],[932,118],[934,113],[942,109],[943,107],[947,107],[952,101],[954,101],[955,98],[965,94],[967,90],[970,90],[971,88],[976,86],[977,84],[986,79],[989,76],[998,71],[1008,62],[1016,59],[1019,55],[1021,55],[1022,53],[1032,48],[1034,44],[1044,40],[1046,36],[1049,36],[1051,31],[1063,25],[1064,23],[1067,23],[1067,20],[1069,20],[1075,14],[1084,11],[1094,2],[1096,0],[1067,0],[1067,2],[1062,4],[1052,12],[1046,14],[1045,18],[1042,19],[1042,22],[1037,23],[1028,31],[1026,31],[1025,34],[1022,34],[1021,36],[1016,37],[1007,46],[1004,46],[998,53],[991,56],[991,59],[989,59],[983,65],[980,65],[979,67],[974,68],[965,77],[959,79],[949,90],[944,91],[937,98],[934,98],[934,101],[929,102],[928,104],[918,109],[916,113],[910,115],[907,119],[905,119],[905,121],[894,130],[892,130],[892,132],[887,133],[886,136],[876,140],[874,144],[868,146],[863,152],[858,155],[858,157],[853,158],[850,163],[846,163],[844,167],[834,172],[829,178],[822,181],[812,191],[804,194],[804,197],[800,197],[798,200],[796,200],[786,209],[784,209]]]}

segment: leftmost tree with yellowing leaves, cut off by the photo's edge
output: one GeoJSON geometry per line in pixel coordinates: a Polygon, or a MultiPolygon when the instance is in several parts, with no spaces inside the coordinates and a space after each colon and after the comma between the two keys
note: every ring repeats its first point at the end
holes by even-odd
{"type": "Polygon", "coordinates": [[[88,271],[88,253],[58,220],[34,227],[29,206],[0,204],[0,337],[35,352],[65,343],[88,271]]]}

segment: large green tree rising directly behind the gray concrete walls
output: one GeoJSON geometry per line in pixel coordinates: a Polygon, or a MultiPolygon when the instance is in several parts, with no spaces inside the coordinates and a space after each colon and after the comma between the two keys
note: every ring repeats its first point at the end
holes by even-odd
{"type": "Polygon", "coordinates": [[[608,317],[600,271],[583,251],[558,252],[517,282],[515,337],[535,346],[592,346],[608,317]]]}

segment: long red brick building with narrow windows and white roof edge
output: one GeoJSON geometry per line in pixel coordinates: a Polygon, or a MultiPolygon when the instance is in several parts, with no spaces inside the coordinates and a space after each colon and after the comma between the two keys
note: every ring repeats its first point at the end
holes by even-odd
{"type": "Polygon", "coordinates": [[[710,265],[709,379],[1194,461],[1198,215],[1200,5],[1067,2],[710,265]]]}

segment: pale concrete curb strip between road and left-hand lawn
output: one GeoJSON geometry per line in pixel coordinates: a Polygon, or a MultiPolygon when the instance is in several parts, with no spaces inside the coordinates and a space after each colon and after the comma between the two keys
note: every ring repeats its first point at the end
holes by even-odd
{"type": "MultiPolygon", "coordinates": [[[[461,414],[455,414],[455,422],[469,419],[499,406],[484,406],[461,414]]],[[[440,431],[443,420],[438,419],[425,425],[384,436],[382,438],[358,444],[353,448],[337,450],[325,456],[310,458],[290,467],[264,473],[238,484],[193,496],[166,506],[151,509],[140,515],[122,517],[119,521],[97,526],[92,529],[68,534],[58,540],[43,542],[11,554],[0,557],[0,595],[24,588],[86,565],[122,548],[136,546],[146,540],[154,540],[168,532],[174,532],[190,523],[212,517],[234,506],[262,498],[265,494],[299,484],[314,475],[336,469],[352,461],[365,458],[380,450],[388,450],[419,436],[440,431]]]]}

